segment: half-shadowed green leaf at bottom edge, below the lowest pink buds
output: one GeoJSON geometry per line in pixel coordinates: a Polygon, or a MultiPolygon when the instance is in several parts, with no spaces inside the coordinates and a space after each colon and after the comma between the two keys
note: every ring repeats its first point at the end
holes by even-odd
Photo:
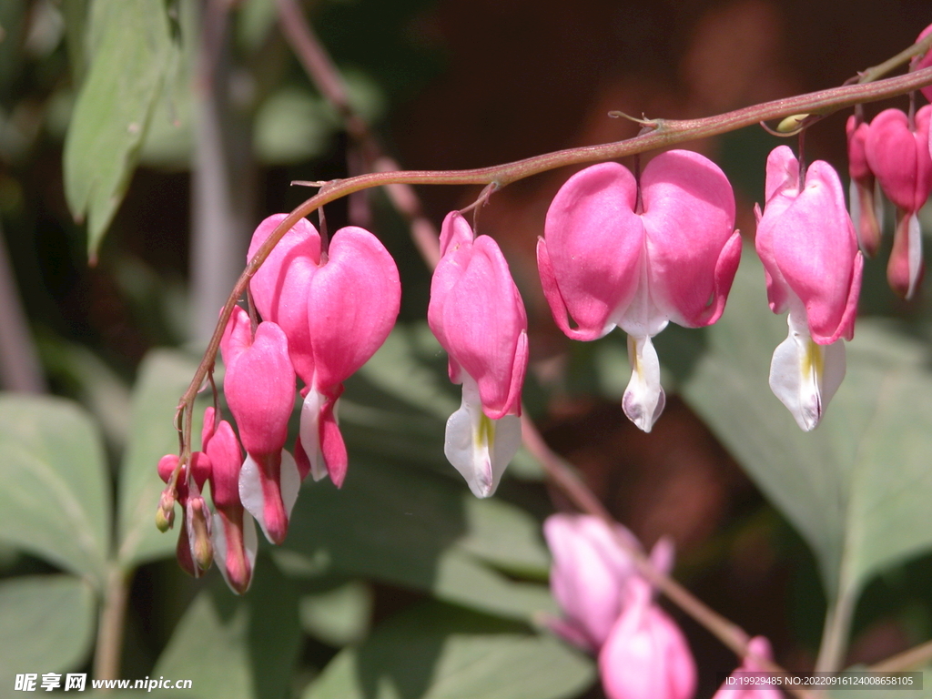
{"type": "Polygon", "coordinates": [[[263,557],[245,596],[219,575],[214,582],[185,612],[152,676],[189,678],[184,695],[199,699],[281,699],[300,641],[295,590],[263,557]]]}

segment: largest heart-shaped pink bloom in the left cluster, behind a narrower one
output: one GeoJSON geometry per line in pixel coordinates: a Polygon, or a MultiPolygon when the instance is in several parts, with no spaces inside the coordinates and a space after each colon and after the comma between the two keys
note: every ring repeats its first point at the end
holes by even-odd
{"type": "MultiPolygon", "coordinates": [[[[255,229],[249,257],[285,218],[269,216],[255,229]]],[[[289,230],[250,284],[255,306],[288,337],[295,373],[304,382],[295,454],[301,475],[329,474],[336,487],[347,472],[347,451],[336,423],[343,381],[389,336],[401,304],[394,260],[367,230],[336,231],[329,249],[307,219],[289,230]]]]}

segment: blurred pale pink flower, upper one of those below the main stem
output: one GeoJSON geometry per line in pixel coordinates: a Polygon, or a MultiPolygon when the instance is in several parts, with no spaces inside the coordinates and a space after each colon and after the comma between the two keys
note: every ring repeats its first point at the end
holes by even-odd
{"type": "MultiPolygon", "coordinates": [[[[584,514],[547,517],[543,535],[554,557],[550,589],[563,611],[563,618],[551,628],[570,643],[597,653],[632,602],[631,582],[642,580],[618,539],[637,550],[640,544],[621,525],[609,528],[598,517],[584,514]]],[[[673,567],[672,542],[657,541],[651,562],[654,568],[669,572],[673,567]]]]}

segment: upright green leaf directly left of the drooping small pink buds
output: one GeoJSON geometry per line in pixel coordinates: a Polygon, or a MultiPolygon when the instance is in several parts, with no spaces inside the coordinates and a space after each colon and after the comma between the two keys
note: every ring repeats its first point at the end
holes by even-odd
{"type": "MultiPolygon", "coordinates": [[[[158,478],[158,459],[178,453],[175,408],[187,389],[197,363],[181,352],[159,349],[139,369],[132,393],[130,445],[119,473],[119,550],[124,569],[171,555],[177,529],[165,534],[156,528],[158,497],[165,484],[158,478]]],[[[199,418],[199,411],[195,410],[199,418]]],[[[199,437],[195,419],[192,435],[199,437]]]]}

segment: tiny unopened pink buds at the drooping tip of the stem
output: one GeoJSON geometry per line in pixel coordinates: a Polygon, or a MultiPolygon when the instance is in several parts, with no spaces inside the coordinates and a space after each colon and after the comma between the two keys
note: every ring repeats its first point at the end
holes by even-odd
{"type": "MultiPolygon", "coordinates": [[[[213,551],[211,545],[211,518],[207,503],[201,496],[201,489],[211,474],[211,461],[203,452],[193,452],[188,464],[182,466],[175,485],[177,502],[181,505],[181,531],[178,532],[178,545],[175,555],[178,564],[188,575],[199,578],[211,567],[213,551]],[[188,464],[192,477],[188,479],[188,464]]],[[[171,479],[178,466],[176,454],[166,454],[158,459],[158,476],[165,483],[171,479]]],[[[173,507],[173,505],[172,505],[173,507]]],[[[170,522],[173,515],[169,515],[170,522]]]]}

